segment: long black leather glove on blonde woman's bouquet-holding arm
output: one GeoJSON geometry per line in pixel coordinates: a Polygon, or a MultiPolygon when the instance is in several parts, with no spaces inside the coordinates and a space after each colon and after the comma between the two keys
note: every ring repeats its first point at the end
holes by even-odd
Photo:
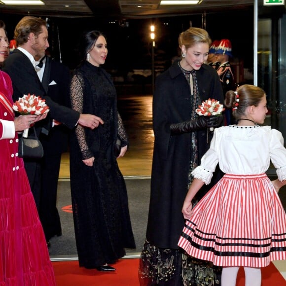
{"type": "Polygon", "coordinates": [[[208,127],[218,127],[220,126],[223,120],[223,115],[215,115],[215,116],[199,116],[196,119],[190,121],[184,121],[181,123],[171,124],[170,130],[171,135],[179,135],[182,133],[188,133],[193,131],[198,131],[200,129],[208,128],[208,127]]]}

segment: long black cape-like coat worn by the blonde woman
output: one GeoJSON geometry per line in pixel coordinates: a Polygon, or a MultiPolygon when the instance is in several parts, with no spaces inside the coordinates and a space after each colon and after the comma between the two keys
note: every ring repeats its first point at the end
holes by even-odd
{"type": "MultiPolygon", "coordinates": [[[[201,101],[214,98],[223,103],[223,92],[217,72],[208,65],[197,71],[201,101]]],[[[178,249],[184,219],[181,213],[188,190],[191,133],[171,136],[170,125],[191,118],[189,84],[175,62],[156,78],[153,97],[153,129],[155,135],[151,196],[146,239],[158,248],[178,249]]],[[[211,134],[198,131],[198,163],[209,148],[211,134]]],[[[214,176],[214,178],[216,175],[214,176]]],[[[220,178],[218,178],[216,181],[220,178]]],[[[210,185],[206,186],[207,190],[210,185]]],[[[203,195],[206,190],[201,189],[203,195]]]]}

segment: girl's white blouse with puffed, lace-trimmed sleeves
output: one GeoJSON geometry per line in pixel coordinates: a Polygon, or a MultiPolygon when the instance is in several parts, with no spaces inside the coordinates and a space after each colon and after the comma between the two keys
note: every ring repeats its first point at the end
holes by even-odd
{"type": "Polygon", "coordinates": [[[280,131],[270,126],[223,126],[214,130],[210,149],[192,175],[209,184],[217,163],[227,174],[262,174],[270,160],[278,179],[285,180],[286,148],[280,131]]]}

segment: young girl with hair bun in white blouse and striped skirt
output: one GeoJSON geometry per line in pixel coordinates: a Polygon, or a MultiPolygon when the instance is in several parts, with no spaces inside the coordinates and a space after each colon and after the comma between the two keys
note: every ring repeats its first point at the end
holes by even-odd
{"type": "Polygon", "coordinates": [[[278,130],[257,125],[267,112],[261,88],[228,91],[225,107],[233,107],[238,123],[214,130],[210,149],[192,172],[179,247],[222,266],[222,286],[236,285],[240,266],[246,285],[260,286],[260,268],[286,259],[286,214],[277,194],[286,184],[286,148],[278,130]],[[273,181],[265,174],[270,160],[277,169],[273,181]],[[194,195],[210,182],[217,163],[225,175],[192,209],[194,195]]]}

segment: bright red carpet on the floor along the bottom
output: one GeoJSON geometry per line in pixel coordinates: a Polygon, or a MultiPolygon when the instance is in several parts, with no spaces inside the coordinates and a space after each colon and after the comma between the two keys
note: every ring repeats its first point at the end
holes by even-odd
{"type": "MultiPolygon", "coordinates": [[[[120,259],[112,273],[79,268],[78,261],[53,262],[57,286],[139,286],[139,259],[120,259]]],[[[244,286],[244,271],[240,269],[237,286],[244,286]]],[[[286,286],[286,281],[270,263],[262,268],[262,286],[286,286]]]]}

